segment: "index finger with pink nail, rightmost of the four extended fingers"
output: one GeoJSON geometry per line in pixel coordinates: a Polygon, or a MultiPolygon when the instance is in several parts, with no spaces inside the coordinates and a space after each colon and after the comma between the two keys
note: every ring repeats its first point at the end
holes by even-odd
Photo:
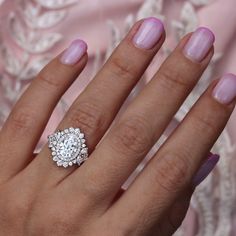
{"type": "Polygon", "coordinates": [[[235,96],[236,76],[226,75],[216,86],[213,83],[112,211],[122,218],[132,210],[126,224],[137,225],[142,216],[148,221],[146,230],[158,222],[191,183],[224,129],[235,107],[235,96]],[[134,202],[135,196],[140,197],[134,202]]]}

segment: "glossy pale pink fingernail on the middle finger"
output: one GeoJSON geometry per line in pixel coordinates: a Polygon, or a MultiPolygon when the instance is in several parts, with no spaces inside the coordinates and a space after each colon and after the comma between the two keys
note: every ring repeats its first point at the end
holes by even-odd
{"type": "Polygon", "coordinates": [[[184,54],[191,60],[202,61],[215,42],[214,34],[207,28],[198,28],[184,47],[184,54]]]}

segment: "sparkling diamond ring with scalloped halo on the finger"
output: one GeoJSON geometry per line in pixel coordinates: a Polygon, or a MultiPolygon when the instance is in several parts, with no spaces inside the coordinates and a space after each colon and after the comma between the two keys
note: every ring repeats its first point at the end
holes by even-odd
{"type": "Polygon", "coordinates": [[[58,166],[68,167],[81,165],[88,159],[88,148],[84,134],[79,128],[58,130],[48,136],[48,147],[52,152],[52,159],[58,166]]]}

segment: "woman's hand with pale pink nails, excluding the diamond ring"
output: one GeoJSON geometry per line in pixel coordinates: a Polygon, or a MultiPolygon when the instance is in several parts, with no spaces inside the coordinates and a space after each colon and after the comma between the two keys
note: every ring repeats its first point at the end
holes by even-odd
{"type": "Polygon", "coordinates": [[[59,99],[86,64],[86,44],[74,41],[39,73],[0,133],[1,235],[174,233],[194,191],[194,176],[234,109],[236,77],[228,74],[209,86],[122,192],[213,55],[209,30],[184,37],[101,140],[164,39],[159,20],[137,22],[59,124],[60,130],[78,127],[85,133],[90,157],[79,168],[58,167],[47,145],[36,157],[33,151],[59,99]]]}

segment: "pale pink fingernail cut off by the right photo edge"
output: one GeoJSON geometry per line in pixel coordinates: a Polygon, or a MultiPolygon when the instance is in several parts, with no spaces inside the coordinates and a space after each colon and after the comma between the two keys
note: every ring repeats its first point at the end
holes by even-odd
{"type": "Polygon", "coordinates": [[[236,97],[236,76],[224,75],[214,88],[212,95],[222,104],[231,103],[236,97]]]}

